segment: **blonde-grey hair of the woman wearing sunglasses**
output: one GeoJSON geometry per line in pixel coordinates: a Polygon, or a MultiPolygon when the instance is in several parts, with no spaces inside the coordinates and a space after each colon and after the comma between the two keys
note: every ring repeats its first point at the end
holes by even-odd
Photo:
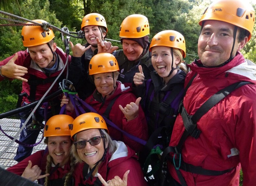
{"type": "MultiPolygon", "coordinates": [[[[116,151],[115,142],[111,139],[109,134],[104,129],[100,129],[100,130],[101,130],[101,133],[102,133],[101,135],[103,135],[103,137],[105,138],[105,143],[108,142],[108,146],[107,146],[108,153],[113,154],[116,151]]],[[[74,135],[74,139],[76,140],[76,134],[74,135]]],[[[83,160],[79,157],[74,144],[71,146],[71,155],[75,158],[75,163],[82,163],[83,162],[83,160]]]]}

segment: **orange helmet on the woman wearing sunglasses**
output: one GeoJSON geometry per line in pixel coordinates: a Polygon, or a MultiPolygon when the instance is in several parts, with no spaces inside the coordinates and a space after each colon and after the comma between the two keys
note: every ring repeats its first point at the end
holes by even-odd
{"type": "Polygon", "coordinates": [[[74,119],[71,125],[71,140],[74,140],[73,136],[76,133],[92,128],[105,129],[108,133],[107,124],[102,116],[94,112],[81,114],[74,119]]]}

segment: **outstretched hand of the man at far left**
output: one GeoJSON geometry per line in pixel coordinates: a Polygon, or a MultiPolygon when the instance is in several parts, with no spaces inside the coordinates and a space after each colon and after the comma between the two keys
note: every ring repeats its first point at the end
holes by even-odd
{"type": "Polygon", "coordinates": [[[14,62],[18,59],[18,54],[15,53],[14,57],[10,61],[1,67],[1,74],[11,79],[18,79],[27,82],[27,79],[22,78],[28,69],[24,66],[16,65],[14,62]]]}

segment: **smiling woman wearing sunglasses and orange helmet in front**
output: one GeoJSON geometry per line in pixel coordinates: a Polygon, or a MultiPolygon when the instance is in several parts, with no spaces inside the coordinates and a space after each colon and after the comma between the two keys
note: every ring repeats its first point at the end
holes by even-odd
{"type": "Polygon", "coordinates": [[[85,162],[83,171],[74,171],[80,185],[147,185],[135,152],[110,138],[99,114],[85,113],[75,118],[71,139],[76,163],[85,162]]]}

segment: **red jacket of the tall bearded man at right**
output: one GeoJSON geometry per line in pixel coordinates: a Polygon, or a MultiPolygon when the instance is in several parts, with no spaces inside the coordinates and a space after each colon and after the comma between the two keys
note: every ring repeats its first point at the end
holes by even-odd
{"type": "MultiPolygon", "coordinates": [[[[253,84],[234,90],[210,109],[197,127],[201,130],[198,139],[189,136],[182,148],[185,163],[204,169],[232,171],[218,176],[206,176],[180,170],[187,185],[216,186],[239,185],[242,166],[243,185],[256,183],[256,65],[248,64],[240,52],[228,64],[221,67],[200,67],[200,61],[193,62],[191,72],[185,79],[185,87],[195,73],[198,73],[184,97],[184,107],[189,115],[213,94],[239,81],[253,84]],[[241,163],[241,165],[240,165],[241,163]]],[[[176,146],[184,131],[179,114],[174,124],[170,146],[176,146]]],[[[179,181],[174,166],[168,164],[171,175],[179,181]]]]}

